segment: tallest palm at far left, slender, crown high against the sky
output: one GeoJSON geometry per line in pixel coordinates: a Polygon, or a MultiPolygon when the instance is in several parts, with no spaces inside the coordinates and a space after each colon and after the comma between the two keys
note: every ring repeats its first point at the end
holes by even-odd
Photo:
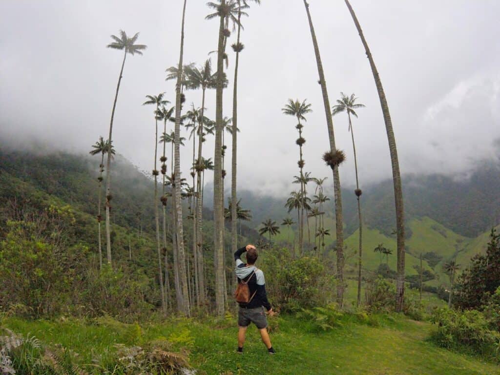
{"type": "MultiPolygon", "coordinates": [[[[125,31],[120,30],[120,37],[116,35],[111,35],[113,41],[107,45],[108,48],[121,49],[123,53],[123,62],[121,63],[120,75],[118,77],[118,84],[116,85],[116,93],[114,94],[113,109],[111,110],[111,121],[109,122],[109,136],[107,140],[109,143],[112,142],[112,131],[113,131],[113,118],[114,109],[116,108],[116,100],[118,99],[118,90],[120,88],[121,77],[123,76],[123,67],[125,66],[126,54],[130,53],[132,56],[134,54],[142,54],[142,50],[146,49],[147,46],[144,44],[135,44],[139,33],[137,32],[132,37],[128,37],[125,31]]],[[[107,262],[111,264],[111,230],[109,222],[109,209],[111,207],[111,178],[110,178],[110,164],[111,164],[111,154],[107,154],[106,161],[106,252],[107,252],[107,262]]]]}

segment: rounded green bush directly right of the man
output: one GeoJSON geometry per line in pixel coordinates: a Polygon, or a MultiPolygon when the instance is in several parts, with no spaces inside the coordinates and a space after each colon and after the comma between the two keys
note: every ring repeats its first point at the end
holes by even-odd
{"type": "Polygon", "coordinates": [[[286,250],[277,254],[269,251],[262,269],[266,277],[272,277],[272,282],[266,283],[272,304],[282,311],[323,306],[333,299],[334,278],[325,274],[315,257],[290,259],[286,250]]]}

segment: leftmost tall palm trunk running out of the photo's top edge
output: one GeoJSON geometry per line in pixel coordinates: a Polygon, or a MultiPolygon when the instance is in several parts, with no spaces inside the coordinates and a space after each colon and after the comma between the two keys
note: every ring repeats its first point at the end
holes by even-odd
{"type": "Polygon", "coordinates": [[[184,0],[184,6],[182,9],[182,28],[180,31],[180,53],[179,53],[179,65],[177,74],[177,83],[175,85],[175,171],[174,171],[174,184],[175,184],[175,233],[177,235],[177,248],[178,248],[178,263],[179,263],[179,273],[180,273],[180,286],[182,287],[182,306],[179,306],[180,312],[184,313],[186,316],[190,316],[189,299],[187,291],[187,277],[186,277],[186,264],[185,264],[185,253],[184,253],[184,235],[182,227],[182,202],[180,198],[180,86],[182,85],[182,57],[184,49],[184,17],[186,11],[186,1],[184,0]]]}

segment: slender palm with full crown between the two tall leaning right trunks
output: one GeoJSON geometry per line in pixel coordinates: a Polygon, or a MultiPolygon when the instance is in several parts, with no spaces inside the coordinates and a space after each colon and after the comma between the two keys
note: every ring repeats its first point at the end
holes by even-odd
{"type": "Polygon", "coordinates": [[[354,154],[354,170],[356,173],[356,189],[354,190],[354,193],[356,195],[357,199],[357,215],[358,215],[358,221],[359,221],[359,256],[358,256],[358,264],[357,264],[357,305],[361,303],[361,265],[362,265],[362,252],[363,252],[363,222],[361,219],[361,194],[362,191],[359,188],[359,179],[358,179],[358,174],[357,174],[357,157],[356,157],[356,145],[354,143],[354,129],[352,128],[352,122],[350,115],[352,114],[354,117],[357,118],[357,113],[356,109],[364,107],[364,104],[361,103],[356,103],[357,97],[354,94],[351,94],[350,96],[344,95],[343,92],[340,92],[340,99],[337,99],[337,104],[333,106],[332,115],[341,113],[341,112],[346,112],[347,113],[347,118],[349,120],[349,128],[348,131],[350,131],[350,135],[352,138],[352,150],[354,154]]]}

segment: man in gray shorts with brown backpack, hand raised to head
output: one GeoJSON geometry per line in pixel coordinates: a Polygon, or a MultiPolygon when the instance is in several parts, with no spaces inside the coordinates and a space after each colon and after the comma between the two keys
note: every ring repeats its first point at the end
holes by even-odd
{"type": "Polygon", "coordinates": [[[243,352],[243,344],[245,342],[246,328],[250,322],[253,322],[259,332],[262,342],[267,347],[269,354],[274,354],[274,349],[271,345],[269,334],[267,333],[267,319],[264,314],[264,308],[267,310],[269,316],[275,315],[272,311],[271,305],[267,300],[265,293],[265,280],[264,272],[255,267],[257,260],[257,249],[253,245],[246,245],[234,253],[234,260],[236,261],[236,276],[238,283],[242,280],[248,282],[248,289],[250,290],[250,301],[248,303],[240,303],[238,311],[238,353],[243,352]],[[241,261],[241,254],[246,251],[246,264],[241,261]]]}

